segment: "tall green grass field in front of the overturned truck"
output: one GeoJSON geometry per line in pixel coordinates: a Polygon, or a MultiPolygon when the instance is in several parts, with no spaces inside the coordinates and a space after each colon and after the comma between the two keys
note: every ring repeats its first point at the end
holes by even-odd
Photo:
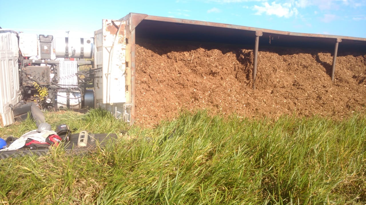
{"type": "MultiPolygon", "coordinates": [[[[366,204],[366,115],[278,120],[182,112],[128,128],[106,111],[46,113],[55,128],[128,129],[85,156],[0,161],[0,204],[366,204]]],[[[32,121],[0,128],[19,137],[32,121]]]]}

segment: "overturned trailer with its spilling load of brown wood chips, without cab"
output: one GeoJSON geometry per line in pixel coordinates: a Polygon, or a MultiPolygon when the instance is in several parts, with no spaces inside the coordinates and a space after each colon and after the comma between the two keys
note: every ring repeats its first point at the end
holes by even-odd
{"type": "Polygon", "coordinates": [[[96,106],[131,124],[180,110],[342,118],[366,108],[366,39],[130,13],[95,32],[96,106]]]}

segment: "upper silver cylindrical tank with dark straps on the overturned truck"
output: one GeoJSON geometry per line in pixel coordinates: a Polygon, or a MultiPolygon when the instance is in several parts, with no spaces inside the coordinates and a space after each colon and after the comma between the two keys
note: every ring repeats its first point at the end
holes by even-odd
{"type": "Polygon", "coordinates": [[[91,58],[93,56],[93,39],[91,38],[56,38],[56,57],[91,58]]]}

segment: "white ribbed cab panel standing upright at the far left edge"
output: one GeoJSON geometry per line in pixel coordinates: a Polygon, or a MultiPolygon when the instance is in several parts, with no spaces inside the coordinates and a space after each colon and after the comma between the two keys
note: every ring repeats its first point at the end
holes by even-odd
{"type": "Polygon", "coordinates": [[[11,105],[20,100],[17,35],[0,29],[0,127],[14,123],[11,105]]]}

